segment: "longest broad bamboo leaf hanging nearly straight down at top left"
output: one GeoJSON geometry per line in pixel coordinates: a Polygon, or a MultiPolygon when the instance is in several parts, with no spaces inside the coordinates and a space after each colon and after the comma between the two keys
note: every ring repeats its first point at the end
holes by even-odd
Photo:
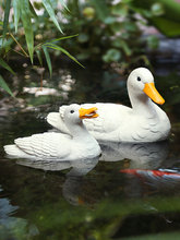
{"type": "Polygon", "coordinates": [[[29,2],[28,0],[21,0],[21,9],[22,9],[22,21],[25,31],[25,38],[27,43],[27,48],[31,57],[31,61],[33,63],[33,52],[34,52],[34,35],[33,35],[33,26],[31,21],[31,11],[29,11],[29,2]]]}

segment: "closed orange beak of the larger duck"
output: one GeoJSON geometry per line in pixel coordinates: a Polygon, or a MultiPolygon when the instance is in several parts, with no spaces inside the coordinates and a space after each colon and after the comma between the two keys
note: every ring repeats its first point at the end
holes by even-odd
{"type": "Polygon", "coordinates": [[[157,92],[154,83],[146,83],[144,86],[143,92],[152,98],[156,104],[163,105],[165,103],[165,99],[160,96],[160,94],[157,92]]]}

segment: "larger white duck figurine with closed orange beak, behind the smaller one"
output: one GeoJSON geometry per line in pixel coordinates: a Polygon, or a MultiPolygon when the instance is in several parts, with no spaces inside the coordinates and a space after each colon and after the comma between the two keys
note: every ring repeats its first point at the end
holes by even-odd
{"type": "MultiPolygon", "coordinates": [[[[98,141],[111,142],[157,142],[167,139],[171,125],[167,115],[156,105],[163,105],[165,100],[155,88],[151,71],[145,68],[133,70],[127,85],[132,108],[118,104],[95,104],[99,118],[84,120],[89,133],[98,141]]],[[[92,104],[81,106],[87,108],[92,104]]],[[[65,106],[62,106],[60,113],[50,112],[47,121],[69,133],[62,117],[64,109],[65,106]]]]}

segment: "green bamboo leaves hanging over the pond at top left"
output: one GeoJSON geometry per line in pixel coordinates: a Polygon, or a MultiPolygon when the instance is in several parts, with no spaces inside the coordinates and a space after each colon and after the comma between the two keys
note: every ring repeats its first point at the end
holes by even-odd
{"type": "MultiPolygon", "coordinates": [[[[64,8],[67,8],[63,0],[59,1],[64,8]]],[[[62,34],[63,32],[58,23],[57,15],[55,12],[55,8],[57,7],[58,1],[41,0],[41,3],[44,5],[44,10],[46,11],[46,15],[48,14],[48,21],[53,23],[53,27],[57,27],[59,34],[62,34]]],[[[0,37],[0,65],[2,65],[3,68],[5,68],[14,74],[13,70],[3,60],[3,58],[8,55],[11,55],[12,51],[22,55],[23,57],[29,58],[32,63],[34,55],[36,53],[39,60],[39,64],[43,65],[43,51],[49,68],[49,72],[51,74],[52,67],[48,49],[60,50],[61,52],[65,53],[69,58],[73,59],[75,62],[81,64],[65,49],[58,46],[58,43],[60,40],[73,36],[58,37],[57,39],[52,39],[51,37],[51,40],[40,43],[34,40],[34,22],[38,23],[38,25],[43,22],[40,22],[39,16],[36,14],[35,7],[33,7],[29,0],[5,0],[2,2],[1,11],[4,12],[4,16],[3,22],[0,22],[0,29],[2,33],[0,37]],[[12,15],[11,10],[13,10],[12,15]],[[24,47],[24,43],[27,46],[27,50],[24,47]]],[[[0,86],[13,96],[11,89],[9,88],[2,76],[0,76],[0,86]]]]}

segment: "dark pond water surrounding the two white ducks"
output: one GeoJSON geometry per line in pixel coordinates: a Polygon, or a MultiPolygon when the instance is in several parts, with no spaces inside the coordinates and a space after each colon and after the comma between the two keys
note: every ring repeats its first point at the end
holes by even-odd
{"type": "Polygon", "coordinates": [[[154,64],[156,87],[166,100],[161,108],[172,124],[167,141],[104,144],[98,159],[44,163],[7,158],[3,145],[51,131],[46,116],[62,104],[129,106],[127,77],[117,67],[88,62],[82,69],[59,61],[51,80],[44,72],[44,87],[51,95],[41,95],[47,91],[38,91],[41,69],[24,61],[11,65],[15,76],[1,73],[16,98],[0,93],[0,239],[179,239],[179,68],[154,64]]]}

